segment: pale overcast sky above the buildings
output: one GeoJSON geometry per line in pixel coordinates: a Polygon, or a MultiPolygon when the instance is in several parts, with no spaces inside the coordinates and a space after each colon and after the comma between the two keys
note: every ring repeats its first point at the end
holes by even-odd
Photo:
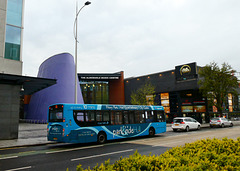
{"type": "MultiPolygon", "coordinates": [[[[239,0],[91,2],[78,17],[78,73],[127,78],[213,61],[240,72],[239,0]]],[[[23,75],[37,76],[55,54],[74,56],[75,13],[75,0],[25,0],[23,75]]]]}

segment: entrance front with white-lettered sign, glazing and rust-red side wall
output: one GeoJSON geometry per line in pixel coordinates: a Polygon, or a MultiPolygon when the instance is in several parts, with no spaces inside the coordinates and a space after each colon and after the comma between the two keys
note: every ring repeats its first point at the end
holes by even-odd
{"type": "Polygon", "coordinates": [[[85,104],[125,104],[124,75],[118,73],[79,73],[85,104]]]}

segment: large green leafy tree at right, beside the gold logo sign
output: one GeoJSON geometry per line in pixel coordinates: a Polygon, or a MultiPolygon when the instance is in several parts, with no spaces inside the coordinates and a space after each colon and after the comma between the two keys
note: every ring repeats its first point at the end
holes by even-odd
{"type": "Polygon", "coordinates": [[[222,68],[219,68],[217,63],[212,62],[199,69],[200,91],[203,96],[207,97],[209,104],[216,106],[221,114],[227,104],[228,93],[237,94],[238,82],[237,78],[232,75],[234,72],[227,63],[223,63],[222,68]]]}

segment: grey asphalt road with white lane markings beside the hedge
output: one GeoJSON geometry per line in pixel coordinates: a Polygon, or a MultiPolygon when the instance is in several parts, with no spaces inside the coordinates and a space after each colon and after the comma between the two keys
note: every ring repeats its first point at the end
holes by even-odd
{"type": "MultiPolygon", "coordinates": [[[[169,128],[168,128],[169,129],[169,128]]],[[[230,128],[204,128],[199,131],[168,131],[155,137],[141,137],[126,141],[113,141],[99,144],[49,144],[6,148],[0,150],[0,170],[76,170],[81,164],[83,168],[93,167],[110,159],[111,163],[121,156],[128,157],[136,150],[140,154],[162,154],[167,149],[182,146],[206,138],[240,137],[240,126],[230,128]]]]}

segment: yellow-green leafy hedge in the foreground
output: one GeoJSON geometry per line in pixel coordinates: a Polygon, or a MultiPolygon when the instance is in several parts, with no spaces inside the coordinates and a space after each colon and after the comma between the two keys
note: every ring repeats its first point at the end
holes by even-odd
{"type": "Polygon", "coordinates": [[[224,138],[199,140],[174,147],[165,153],[141,155],[137,151],[129,158],[120,158],[113,164],[110,160],[92,169],[77,166],[77,171],[200,171],[200,170],[240,170],[240,137],[237,140],[224,138]]]}

